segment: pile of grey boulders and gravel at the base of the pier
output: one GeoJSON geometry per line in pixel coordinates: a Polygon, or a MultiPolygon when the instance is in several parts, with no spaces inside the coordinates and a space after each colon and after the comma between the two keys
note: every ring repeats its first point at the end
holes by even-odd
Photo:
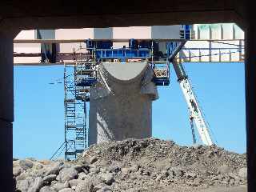
{"type": "Polygon", "coordinates": [[[90,146],[74,162],[15,160],[14,177],[22,192],[196,191],[246,185],[246,154],[127,139],[90,146]]]}

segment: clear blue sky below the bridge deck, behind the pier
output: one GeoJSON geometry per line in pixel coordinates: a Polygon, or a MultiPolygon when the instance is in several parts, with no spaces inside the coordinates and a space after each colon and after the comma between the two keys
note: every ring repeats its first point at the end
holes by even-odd
{"type": "MultiPolygon", "coordinates": [[[[185,63],[218,146],[246,152],[243,63],[185,63]]],[[[158,87],[153,136],[191,145],[188,110],[174,70],[170,86],[158,87]]],[[[14,67],[14,157],[50,158],[63,142],[63,66],[14,67]]]]}

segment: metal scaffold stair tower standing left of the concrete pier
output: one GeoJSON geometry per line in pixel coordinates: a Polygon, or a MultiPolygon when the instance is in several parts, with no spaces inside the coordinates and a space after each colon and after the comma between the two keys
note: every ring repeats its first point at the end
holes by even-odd
{"type": "Polygon", "coordinates": [[[72,66],[64,66],[65,159],[73,160],[87,146],[86,102],[95,71],[89,58],[77,58],[72,66]],[[90,81],[86,81],[90,79],[90,81]]]}

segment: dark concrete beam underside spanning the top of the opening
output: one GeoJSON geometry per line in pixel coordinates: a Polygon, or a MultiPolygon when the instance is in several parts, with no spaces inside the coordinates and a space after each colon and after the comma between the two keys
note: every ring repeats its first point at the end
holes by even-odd
{"type": "Polygon", "coordinates": [[[239,0],[142,0],[117,1],[1,2],[0,30],[58,29],[106,26],[156,26],[189,23],[237,22],[243,19],[244,3],[239,0]],[[54,19],[53,19],[54,18],[54,19]]]}

